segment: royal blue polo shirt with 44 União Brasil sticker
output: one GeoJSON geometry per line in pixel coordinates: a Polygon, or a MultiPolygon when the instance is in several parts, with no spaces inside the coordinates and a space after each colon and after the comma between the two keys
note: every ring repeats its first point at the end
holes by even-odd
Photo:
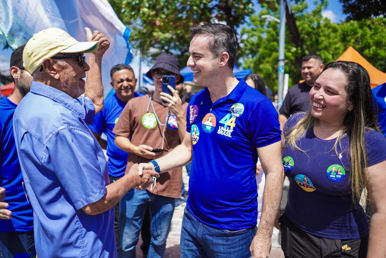
{"type": "Polygon", "coordinates": [[[191,214],[219,229],[256,226],[256,148],[281,139],[271,101],[244,80],[215,103],[205,88],[190,100],[186,131],[193,144],[191,214]]]}

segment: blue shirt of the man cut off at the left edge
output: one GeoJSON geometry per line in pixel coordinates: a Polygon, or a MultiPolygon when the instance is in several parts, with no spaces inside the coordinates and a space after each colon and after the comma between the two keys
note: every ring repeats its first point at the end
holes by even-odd
{"type": "Polygon", "coordinates": [[[32,207],[23,188],[23,176],[15,146],[12,121],[17,105],[8,98],[0,100],[0,186],[6,189],[5,202],[11,219],[0,219],[0,232],[27,232],[34,229],[32,207]]]}

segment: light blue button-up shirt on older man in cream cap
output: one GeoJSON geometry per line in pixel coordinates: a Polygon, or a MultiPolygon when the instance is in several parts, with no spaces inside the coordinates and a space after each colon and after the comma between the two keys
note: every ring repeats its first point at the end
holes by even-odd
{"type": "Polygon", "coordinates": [[[94,216],[81,209],[100,200],[109,184],[102,148],[87,126],[94,115],[90,98],[35,81],[15,110],[39,258],[116,256],[113,208],[94,216]]]}

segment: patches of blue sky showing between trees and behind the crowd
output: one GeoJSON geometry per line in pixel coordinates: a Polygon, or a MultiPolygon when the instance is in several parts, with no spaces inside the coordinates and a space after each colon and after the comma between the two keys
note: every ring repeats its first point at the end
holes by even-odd
{"type": "MultiPolygon", "coordinates": [[[[255,10],[258,13],[260,11],[260,6],[257,3],[257,0],[254,0],[255,10]]],[[[312,10],[315,8],[314,0],[308,0],[308,9],[312,10]]],[[[345,19],[345,15],[342,13],[342,6],[338,0],[329,0],[328,6],[323,10],[323,16],[328,17],[332,22],[340,23],[345,19]]],[[[4,72],[9,69],[9,60],[12,53],[12,49],[1,49],[0,46],[0,71],[4,72]]],[[[139,58],[138,56],[133,56],[133,59],[130,63],[133,67],[136,75],[139,75],[139,58]]],[[[185,67],[185,64],[182,64],[182,67],[185,67]]],[[[142,63],[142,73],[150,68],[147,64],[142,63]]]]}

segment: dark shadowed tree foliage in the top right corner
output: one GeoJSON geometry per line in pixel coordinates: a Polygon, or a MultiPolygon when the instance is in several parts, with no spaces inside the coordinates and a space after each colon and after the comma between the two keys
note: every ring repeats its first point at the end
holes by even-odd
{"type": "Polygon", "coordinates": [[[385,16],[386,3],[384,0],[339,0],[347,20],[362,20],[372,16],[385,16]]]}

